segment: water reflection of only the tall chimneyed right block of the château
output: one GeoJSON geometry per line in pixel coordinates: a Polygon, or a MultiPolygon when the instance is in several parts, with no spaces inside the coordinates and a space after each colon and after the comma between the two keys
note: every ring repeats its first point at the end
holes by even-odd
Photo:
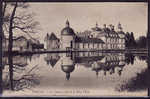
{"type": "Polygon", "coordinates": [[[106,55],[102,60],[94,62],[92,64],[92,70],[98,72],[103,70],[104,75],[108,71],[110,74],[115,73],[115,68],[119,67],[118,74],[121,75],[123,67],[125,66],[125,56],[123,54],[109,54],[106,55]]]}

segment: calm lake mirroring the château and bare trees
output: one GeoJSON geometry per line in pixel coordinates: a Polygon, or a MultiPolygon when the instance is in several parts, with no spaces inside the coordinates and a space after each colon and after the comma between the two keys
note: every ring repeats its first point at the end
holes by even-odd
{"type": "Polygon", "coordinates": [[[3,96],[147,96],[147,56],[127,53],[46,53],[3,58],[3,96]],[[14,90],[10,90],[13,81],[14,90]]]}

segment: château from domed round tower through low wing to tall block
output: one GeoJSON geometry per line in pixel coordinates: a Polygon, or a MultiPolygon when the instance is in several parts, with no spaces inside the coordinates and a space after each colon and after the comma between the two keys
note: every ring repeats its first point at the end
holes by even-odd
{"type": "Polygon", "coordinates": [[[123,50],[125,49],[125,33],[120,23],[118,31],[115,31],[113,25],[109,25],[108,28],[104,24],[104,28],[100,28],[96,24],[90,35],[81,36],[74,32],[67,20],[66,27],[61,31],[61,47],[64,50],[123,50]]]}

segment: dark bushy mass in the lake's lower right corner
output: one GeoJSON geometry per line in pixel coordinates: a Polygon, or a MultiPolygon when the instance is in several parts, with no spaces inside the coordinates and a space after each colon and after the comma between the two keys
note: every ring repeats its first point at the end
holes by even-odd
{"type": "MultiPolygon", "coordinates": [[[[145,60],[148,67],[150,67],[147,56],[138,56],[140,60],[145,60]]],[[[120,85],[116,90],[118,91],[141,91],[148,90],[150,88],[150,69],[145,69],[141,73],[137,73],[137,76],[132,78],[125,84],[120,85]]]]}

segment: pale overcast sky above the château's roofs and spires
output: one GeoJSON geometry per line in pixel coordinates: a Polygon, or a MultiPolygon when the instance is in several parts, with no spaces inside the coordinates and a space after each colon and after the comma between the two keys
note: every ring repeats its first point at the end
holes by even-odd
{"type": "Polygon", "coordinates": [[[30,3],[30,11],[36,14],[40,22],[41,42],[46,33],[54,32],[60,37],[60,31],[65,27],[68,19],[75,31],[90,30],[98,22],[122,24],[125,32],[134,32],[135,38],[146,35],[147,32],[147,3],[30,3]]]}

